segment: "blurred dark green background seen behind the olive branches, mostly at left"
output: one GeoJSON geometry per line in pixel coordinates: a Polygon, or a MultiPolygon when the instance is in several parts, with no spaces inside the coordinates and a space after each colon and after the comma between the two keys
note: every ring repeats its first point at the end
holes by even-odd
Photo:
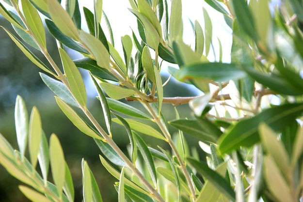
{"type": "MultiPolygon", "coordinates": [[[[12,26],[2,17],[0,17],[0,25],[14,33],[12,26]]],[[[55,62],[60,64],[59,54],[57,51],[56,42],[47,33],[48,51],[53,56],[55,62]]],[[[42,57],[37,50],[30,48],[32,52],[40,56],[40,60],[46,64],[48,62],[42,57]]],[[[73,59],[80,58],[80,55],[69,52],[73,59]]],[[[82,200],[82,179],[81,179],[81,159],[88,161],[92,169],[104,202],[117,201],[117,192],[114,189],[114,182],[117,180],[107,172],[98,157],[101,154],[94,140],[81,133],[63,114],[57,106],[54,94],[42,82],[38,72],[40,69],[36,67],[15,45],[9,36],[0,30],[0,133],[17,149],[14,108],[16,95],[19,94],[26,102],[29,114],[32,107],[36,106],[39,109],[43,129],[49,139],[51,133],[55,133],[61,141],[65,159],[72,172],[73,182],[75,186],[75,201],[82,200]]],[[[86,71],[81,71],[86,88],[89,95],[88,108],[96,116],[99,123],[105,127],[102,109],[100,102],[96,99],[95,89],[92,88],[86,71]],[[87,78],[87,79],[85,79],[87,78]]],[[[163,82],[169,75],[162,75],[163,82]]],[[[197,92],[192,91],[187,86],[171,79],[168,85],[164,87],[164,96],[193,96],[197,92]]],[[[136,108],[143,109],[140,103],[128,103],[136,108]]],[[[191,110],[188,105],[178,106],[180,117],[188,117],[191,110]]],[[[167,120],[175,119],[174,107],[168,104],[163,105],[163,113],[167,120]]],[[[129,145],[128,136],[124,128],[113,123],[113,139],[127,153],[126,147],[129,145]]],[[[171,132],[175,130],[171,128],[171,132]]],[[[146,137],[143,137],[146,138],[146,137]]],[[[192,146],[197,146],[197,140],[186,136],[188,142],[192,146]]],[[[150,146],[160,145],[168,149],[164,142],[159,142],[157,139],[145,139],[150,146]]],[[[28,157],[28,154],[27,154],[28,157]]],[[[37,168],[37,170],[39,170],[37,168]]],[[[51,180],[51,176],[49,175],[51,180]]],[[[0,165],[0,202],[28,202],[28,200],[18,190],[18,185],[21,183],[13,178],[0,165]]]]}

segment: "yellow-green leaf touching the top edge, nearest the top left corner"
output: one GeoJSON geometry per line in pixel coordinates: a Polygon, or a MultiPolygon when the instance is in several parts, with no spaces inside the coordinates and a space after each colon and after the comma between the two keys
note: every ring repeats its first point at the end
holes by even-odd
{"type": "Polygon", "coordinates": [[[37,41],[46,49],[46,36],[42,20],[29,0],[21,0],[22,11],[26,22],[32,30],[37,41]]]}

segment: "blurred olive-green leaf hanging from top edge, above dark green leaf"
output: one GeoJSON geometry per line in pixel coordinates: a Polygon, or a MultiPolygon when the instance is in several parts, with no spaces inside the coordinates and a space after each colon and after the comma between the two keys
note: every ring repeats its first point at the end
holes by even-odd
{"type": "Polygon", "coordinates": [[[73,20],[57,0],[48,0],[48,10],[51,19],[64,35],[79,41],[80,36],[73,20]],[[63,20],[64,19],[64,20],[63,20]]]}

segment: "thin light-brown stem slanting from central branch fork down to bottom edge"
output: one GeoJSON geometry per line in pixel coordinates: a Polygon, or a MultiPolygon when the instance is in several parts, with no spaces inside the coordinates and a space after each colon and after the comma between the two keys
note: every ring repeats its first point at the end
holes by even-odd
{"type": "Polygon", "coordinates": [[[146,109],[149,111],[149,113],[152,115],[152,117],[154,118],[154,120],[156,121],[157,125],[159,126],[160,130],[162,131],[164,137],[167,139],[170,147],[172,148],[173,152],[175,153],[178,161],[179,161],[179,164],[180,164],[180,167],[181,167],[181,170],[186,178],[186,181],[187,181],[187,184],[191,190],[191,198],[192,198],[192,201],[194,202],[195,201],[195,189],[194,189],[194,186],[193,186],[193,183],[191,181],[191,177],[190,177],[190,174],[189,172],[187,171],[186,169],[186,165],[185,163],[183,162],[181,156],[179,155],[176,147],[175,147],[175,144],[171,138],[171,135],[169,133],[169,131],[167,130],[167,128],[165,127],[164,124],[162,124],[161,120],[158,118],[158,115],[156,114],[156,112],[154,111],[154,109],[151,108],[151,106],[149,105],[148,102],[146,102],[145,100],[143,100],[143,103],[144,103],[144,106],[146,107],[146,109]]]}

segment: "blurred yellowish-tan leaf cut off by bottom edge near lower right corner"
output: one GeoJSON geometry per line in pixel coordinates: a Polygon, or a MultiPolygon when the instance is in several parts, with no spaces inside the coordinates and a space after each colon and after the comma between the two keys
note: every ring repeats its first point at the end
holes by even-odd
{"type": "Polygon", "coordinates": [[[271,193],[279,202],[292,201],[289,186],[271,155],[264,157],[264,178],[271,193]]]}

